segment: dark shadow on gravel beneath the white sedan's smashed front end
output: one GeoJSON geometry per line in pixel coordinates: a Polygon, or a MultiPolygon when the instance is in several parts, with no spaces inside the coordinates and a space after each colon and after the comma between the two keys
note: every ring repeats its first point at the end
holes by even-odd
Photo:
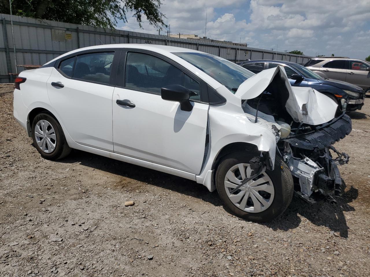
{"type": "Polygon", "coordinates": [[[316,226],[326,226],[340,237],[348,237],[348,229],[346,218],[343,212],[352,212],[355,209],[349,205],[358,197],[358,190],[351,186],[347,191],[344,191],[346,184],[343,181],[342,197],[337,198],[337,203],[325,201],[320,208],[313,208],[310,204],[298,197],[293,197],[292,203],[282,216],[266,223],[266,226],[273,230],[291,230],[300,225],[301,215],[316,226]]]}

